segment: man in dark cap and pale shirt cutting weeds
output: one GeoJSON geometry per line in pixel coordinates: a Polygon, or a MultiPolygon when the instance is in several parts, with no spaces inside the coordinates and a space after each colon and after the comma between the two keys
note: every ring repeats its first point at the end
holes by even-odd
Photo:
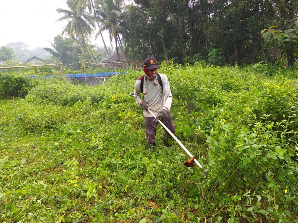
{"type": "MultiPolygon", "coordinates": [[[[157,73],[158,68],[159,66],[154,58],[145,59],[143,62],[145,75],[137,79],[135,83],[134,97],[136,103],[143,109],[148,148],[156,145],[154,141],[158,119],[160,119],[173,134],[175,133],[175,125],[170,113],[173,97],[169,81],[166,75],[157,73]],[[144,101],[141,99],[140,92],[144,94],[144,101]],[[157,118],[154,118],[148,109],[150,109],[157,118]]],[[[170,134],[166,131],[164,137],[171,138],[170,134]]]]}

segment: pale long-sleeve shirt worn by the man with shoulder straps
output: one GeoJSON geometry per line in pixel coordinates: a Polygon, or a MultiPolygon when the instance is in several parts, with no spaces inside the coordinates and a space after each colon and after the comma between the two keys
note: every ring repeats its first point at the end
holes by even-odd
{"type": "MultiPolygon", "coordinates": [[[[145,78],[147,84],[147,93],[144,94],[144,103],[148,106],[148,108],[157,115],[161,109],[165,109],[166,111],[170,111],[171,104],[173,100],[173,96],[170,89],[170,84],[168,78],[164,74],[159,74],[161,77],[161,81],[163,84],[163,89],[157,81],[157,84],[154,85],[154,81],[150,81],[148,78],[145,78]]],[[[154,79],[157,77],[155,76],[154,79]]],[[[156,81],[155,81],[156,83],[156,81]]],[[[135,91],[134,97],[136,99],[136,103],[140,105],[142,102],[140,91],[141,91],[141,80],[137,80],[135,83],[135,91]]],[[[143,115],[145,117],[153,117],[149,111],[143,109],[143,115]]]]}

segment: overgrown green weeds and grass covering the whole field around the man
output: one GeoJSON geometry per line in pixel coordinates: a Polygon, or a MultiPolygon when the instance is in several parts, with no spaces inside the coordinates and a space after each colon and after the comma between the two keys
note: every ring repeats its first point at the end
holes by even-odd
{"type": "Polygon", "coordinates": [[[298,221],[297,70],[166,66],[175,135],[145,150],[129,96],[141,71],[99,86],[40,79],[0,101],[0,221],[298,221]],[[272,75],[269,76],[268,74],[272,75]]]}

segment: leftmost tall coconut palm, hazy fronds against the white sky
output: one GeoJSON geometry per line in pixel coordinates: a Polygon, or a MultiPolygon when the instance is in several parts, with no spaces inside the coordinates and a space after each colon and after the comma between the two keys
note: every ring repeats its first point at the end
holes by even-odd
{"type": "Polygon", "coordinates": [[[84,47],[87,49],[91,57],[92,62],[95,63],[95,60],[91,55],[91,52],[86,43],[87,36],[93,32],[92,27],[95,27],[92,20],[93,17],[85,10],[86,7],[84,7],[83,5],[77,7],[77,5],[74,4],[73,0],[68,0],[66,3],[70,10],[62,8],[57,9],[58,13],[65,14],[57,21],[68,21],[68,24],[62,31],[62,35],[64,33],[67,33],[71,37],[74,34],[77,38],[81,38],[83,40],[84,47]]]}

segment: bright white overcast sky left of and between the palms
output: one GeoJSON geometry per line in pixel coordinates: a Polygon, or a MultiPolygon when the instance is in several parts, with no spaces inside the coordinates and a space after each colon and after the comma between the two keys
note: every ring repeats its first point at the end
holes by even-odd
{"type": "MultiPolygon", "coordinates": [[[[65,0],[0,0],[0,46],[24,42],[29,49],[51,47],[57,34],[61,35],[67,21],[59,21],[63,14],[56,9],[69,9],[65,0]]],[[[94,35],[96,34],[94,31],[94,35]]],[[[93,35],[93,36],[94,36],[93,35]]],[[[105,43],[110,46],[108,33],[105,43]]],[[[92,44],[103,46],[101,37],[91,39],[92,44]]]]}

